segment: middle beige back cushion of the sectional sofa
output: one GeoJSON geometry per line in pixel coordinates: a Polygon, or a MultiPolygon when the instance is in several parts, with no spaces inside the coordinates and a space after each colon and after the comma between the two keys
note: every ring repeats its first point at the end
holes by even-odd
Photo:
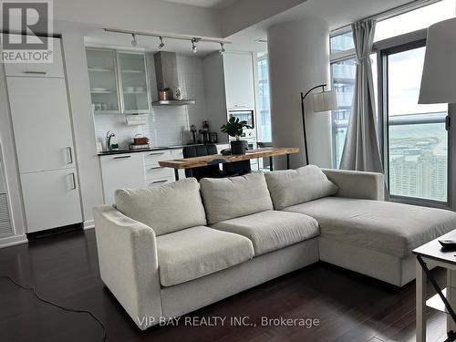
{"type": "Polygon", "coordinates": [[[200,186],[209,224],[273,209],[261,171],[231,178],[203,178],[200,186]]]}

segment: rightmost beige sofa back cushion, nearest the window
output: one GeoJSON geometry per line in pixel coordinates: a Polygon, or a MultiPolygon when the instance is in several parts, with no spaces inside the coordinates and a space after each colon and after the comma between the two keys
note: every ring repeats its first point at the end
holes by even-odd
{"type": "Polygon", "coordinates": [[[315,165],[297,170],[267,172],[264,177],[275,210],[331,196],[337,192],[337,185],[329,181],[325,173],[315,165]]]}

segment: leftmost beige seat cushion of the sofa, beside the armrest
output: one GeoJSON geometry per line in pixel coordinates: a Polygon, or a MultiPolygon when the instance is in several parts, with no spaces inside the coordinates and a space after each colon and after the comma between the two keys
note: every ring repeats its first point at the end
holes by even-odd
{"type": "Polygon", "coordinates": [[[249,239],[203,226],[157,237],[157,250],[162,286],[211,275],[254,257],[249,239]]]}

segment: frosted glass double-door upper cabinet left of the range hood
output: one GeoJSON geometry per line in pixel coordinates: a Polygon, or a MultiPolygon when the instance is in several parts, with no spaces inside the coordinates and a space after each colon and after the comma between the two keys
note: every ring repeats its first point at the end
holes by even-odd
{"type": "Polygon", "coordinates": [[[95,113],[150,112],[150,90],[143,53],[88,48],[87,59],[95,113]]]}

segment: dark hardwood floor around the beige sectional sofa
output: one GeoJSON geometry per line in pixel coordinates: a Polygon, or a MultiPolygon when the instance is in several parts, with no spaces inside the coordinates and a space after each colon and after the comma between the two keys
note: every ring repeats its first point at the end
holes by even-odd
{"type": "MultiPolygon", "coordinates": [[[[444,284],[442,270],[434,270],[444,284]]],[[[249,316],[256,326],[155,326],[131,321],[98,275],[93,230],[0,249],[0,275],[36,285],[45,298],[88,309],[107,326],[108,341],[414,341],[415,284],[402,289],[318,263],[234,295],[189,315],[249,316]],[[261,326],[269,318],[316,318],[318,326],[261,326]]],[[[429,286],[430,288],[430,286],[429,286]]],[[[432,291],[430,290],[430,293],[432,291]]],[[[428,311],[428,341],[443,341],[445,316],[428,311]]],[[[101,328],[86,314],[63,312],[0,279],[0,341],[100,341],[101,328]]]]}

